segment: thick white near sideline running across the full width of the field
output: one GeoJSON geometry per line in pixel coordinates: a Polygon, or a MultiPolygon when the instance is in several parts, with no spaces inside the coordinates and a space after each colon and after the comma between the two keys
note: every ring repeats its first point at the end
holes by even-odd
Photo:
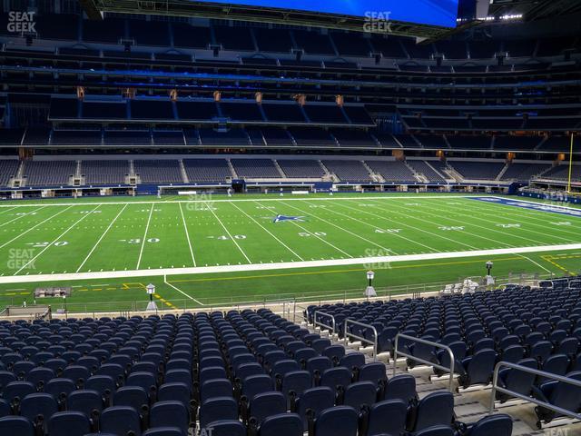
{"type": "Polygon", "coordinates": [[[300,268],[321,268],[326,266],[340,265],[364,265],[368,263],[400,263],[415,261],[436,261],[441,259],[467,258],[467,257],[489,257],[504,254],[523,253],[547,253],[569,250],[581,250],[581,243],[570,243],[562,245],[546,245],[541,247],[515,247],[500,248],[495,250],[477,250],[466,252],[447,253],[424,253],[406,254],[399,256],[361,257],[350,259],[332,259],[323,261],[307,262],[287,262],[287,263],[254,263],[254,264],[232,264],[222,266],[208,266],[197,268],[174,268],[174,269],[150,269],[135,271],[103,271],[103,272],[80,272],[63,274],[36,274],[17,275],[0,277],[0,284],[5,283],[30,283],[30,282],[58,282],[74,280],[103,280],[103,279],[126,279],[132,277],[160,277],[170,275],[190,275],[208,274],[218,272],[249,272],[249,271],[272,271],[272,270],[293,270],[300,268]]]}

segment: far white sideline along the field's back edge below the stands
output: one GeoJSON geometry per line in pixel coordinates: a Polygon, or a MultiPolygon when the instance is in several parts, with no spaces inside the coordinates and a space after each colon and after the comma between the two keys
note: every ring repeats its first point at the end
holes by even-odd
{"type": "MultiPolygon", "coordinates": [[[[300,202],[302,200],[310,200],[313,202],[334,202],[334,201],[344,201],[344,200],[410,200],[410,199],[414,199],[414,200],[419,200],[422,198],[474,198],[475,195],[446,195],[446,194],[441,194],[441,195],[422,195],[422,196],[418,196],[418,195],[414,195],[414,196],[408,196],[408,195],[402,195],[402,196],[398,196],[398,197],[380,197],[380,196],[374,196],[374,197],[317,197],[317,198],[309,198],[309,197],[295,197],[295,198],[285,198],[285,201],[287,202],[300,202]]],[[[229,202],[241,202],[241,203],[248,203],[248,202],[256,202],[256,201],[261,201],[261,202],[280,202],[281,199],[280,198],[264,198],[264,199],[250,199],[250,198],[240,198],[240,199],[218,199],[218,200],[214,200],[212,199],[212,203],[229,203],[229,202]]],[[[207,200],[172,200],[172,201],[159,201],[159,202],[105,202],[103,204],[125,204],[125,203],[130,203],[130,204],[172,204],[172,203],[207,203],[207,200]]],[[[34,204],[17,204],[17,207],[40,207],[40,206],[93,206],[94,203],[34,203],[34,204]]],[[[14,207],[14,204],[0,204],[0,209],[3,207],[14,207]]],[[[576,209],[576,211],[578,211],[579,209],[576,209]]]]}

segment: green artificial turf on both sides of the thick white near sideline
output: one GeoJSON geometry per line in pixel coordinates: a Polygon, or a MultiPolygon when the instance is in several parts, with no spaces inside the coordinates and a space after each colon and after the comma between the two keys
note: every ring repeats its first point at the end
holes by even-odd
{"type": "MultiPolygon", "coordinates": [[[[497,263],[498,275],[563,274],[579,269],[578,253],[565,251],[527,253],[526,257],[508,254],[292,268],[292,263],[301,261],[581,243],[581,218],[573,216],[453,195],[216,196],[197,200],[136,197],[5,203],[0,208],[0,259],[6,262],[0,263],[0,274],[5,278],[289,263],[276,271],[170,275],[168,282],[174,287],[162,277],[67,281],[74,286],[68,309],[91,312],[138,309],[146,299],[146,282],[157,285],[164,307],[174,308],[359,293],[368,267],[379,271],[375,284],[383,292],[388,292],[388,286],[483,275],[488,258],[497,263]],[[304,218],[274,223],[277,214],[304,218]]],[[[42,283],[54,284],[64,282],[42,283]]],[[[0,304],[32,302],[31,292],[39,285],[2,284],[0,304]]]]}

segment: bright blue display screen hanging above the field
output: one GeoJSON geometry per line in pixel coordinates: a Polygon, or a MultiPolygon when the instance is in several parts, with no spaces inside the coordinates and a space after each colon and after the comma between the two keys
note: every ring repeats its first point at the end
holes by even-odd
{"type": "Polygon", "coordinates": [[[369,19],[405,21],[421,25],[456,27],[458,0],[232,0],[202,3],[260,6],[275,9],[293,9],[314,13],[354,15],[369,19]]]}

